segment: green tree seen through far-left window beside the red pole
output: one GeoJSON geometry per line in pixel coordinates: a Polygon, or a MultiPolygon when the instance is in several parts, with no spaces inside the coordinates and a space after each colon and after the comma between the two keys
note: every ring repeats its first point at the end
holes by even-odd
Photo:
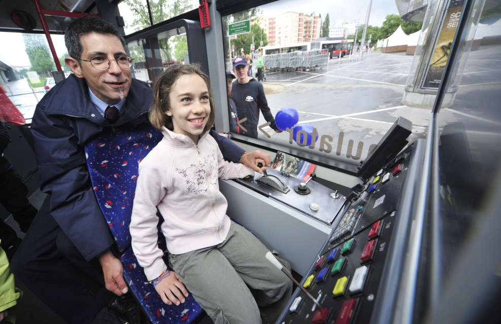
{"type": "Polygon", "coordinates": [[[22,34],[31,69],[39,74],[48,74],[56,69],[45,38],[40,34],[22,34]]]}

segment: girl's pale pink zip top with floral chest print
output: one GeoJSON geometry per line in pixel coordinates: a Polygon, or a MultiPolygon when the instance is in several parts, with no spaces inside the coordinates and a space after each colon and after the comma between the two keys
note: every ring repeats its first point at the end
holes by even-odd
{"type": "Polygon", "coordinates": [[[171,254],[217,245],[230,226],[218,178],[254,174],[243,164],[224,161],[208,132],[197,146],[165,127],[162,133],[163,139],[139,165],[130,222],[132,249],[148,280],[166,269],[157,245],[157,208],[165,220],[161,229],[171,254]]]}

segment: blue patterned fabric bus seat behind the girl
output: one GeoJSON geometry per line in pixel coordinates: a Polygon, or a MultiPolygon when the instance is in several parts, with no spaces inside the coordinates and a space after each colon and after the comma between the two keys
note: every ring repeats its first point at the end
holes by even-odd
{"type": "MultiPolygon", "coordinates": [[[[191,293],[179,306],[164,304],[148,282],[131,247],[129,225],[139,163],[162,137],[162,133],[151,126],[103,132],[87,143],[85,156],[97,202],[122,253],[124,278],[149,319],[154,324],[195,323],[205,312],[191,293]]],[[[160,230],[158,243],[162,250],[166,249],[160,230]]]]}

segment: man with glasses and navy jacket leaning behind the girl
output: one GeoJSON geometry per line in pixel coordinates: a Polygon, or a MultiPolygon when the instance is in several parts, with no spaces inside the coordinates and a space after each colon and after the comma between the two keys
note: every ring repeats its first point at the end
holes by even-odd
{"type": "MultiPolygon", "coordinates": [[[[105,306],[118,322],[139,323],[138,305],[127,294],[114,239],[94,196],[84,147],[102,132],[148,123],[153,91],[132,79],[133,59],[112,24],[80,18],[64,40],[70,54],[65,63],[74,74],[44,96],[31,125],[41,189],[49,195],[11,268],[68,323],[90,323],[105,306]]],[[[211,135],[229,161],[271,163],[269,155],[246,153],[211,135]]]]}

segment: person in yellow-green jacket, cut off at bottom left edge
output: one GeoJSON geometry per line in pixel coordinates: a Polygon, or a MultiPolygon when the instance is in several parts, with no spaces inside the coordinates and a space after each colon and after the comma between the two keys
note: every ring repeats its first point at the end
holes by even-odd
{"type": "Polygon", "coordinates": [[[14,275],[9,268],[7,255],[0,247],[0,322],[16,322],[17,302],[22,294],[14,285],[14,275]]]}

